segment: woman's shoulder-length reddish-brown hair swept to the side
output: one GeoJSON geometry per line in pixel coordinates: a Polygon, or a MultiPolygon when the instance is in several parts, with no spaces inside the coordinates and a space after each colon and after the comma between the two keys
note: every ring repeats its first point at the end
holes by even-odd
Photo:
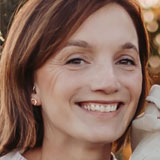
{"type": "MultiPolygon", "coordinates": [[[[135,0],[30,0],[16,14],[0,63],[0,156],[14,149],[24,151],[43,141],[41,107],[31,104],[34,72],[57,53],[93,12],[118,3],[131,16],[139,38],[143,88],[136,115],[147,88],[148,36],[135,0]]],[[[118,29],[118,26],[117,26],[118,29]]],[[[122,146],[125,134],[117,141],[122,146]]]]}

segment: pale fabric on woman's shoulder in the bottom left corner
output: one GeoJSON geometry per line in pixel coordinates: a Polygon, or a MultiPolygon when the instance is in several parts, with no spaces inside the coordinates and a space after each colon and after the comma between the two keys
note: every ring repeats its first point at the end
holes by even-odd
{"type": "Polygon", "coordinates": [[[26,160],[26,159],[18,151],[14,151],[0,157],[0,160],[26,160]]]}

